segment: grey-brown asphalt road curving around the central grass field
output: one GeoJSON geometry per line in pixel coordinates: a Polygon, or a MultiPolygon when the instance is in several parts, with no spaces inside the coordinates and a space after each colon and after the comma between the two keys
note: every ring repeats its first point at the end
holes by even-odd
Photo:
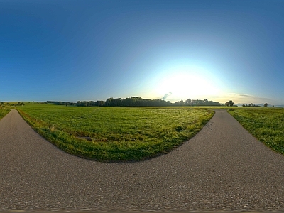
{"type": "Polygon", "coordinates": [[[0,212],[284,210],[284,156],[226,111],[190,141],[138,163],[99,163],[45,141],[12,110],[0,121],[0,212]]]}

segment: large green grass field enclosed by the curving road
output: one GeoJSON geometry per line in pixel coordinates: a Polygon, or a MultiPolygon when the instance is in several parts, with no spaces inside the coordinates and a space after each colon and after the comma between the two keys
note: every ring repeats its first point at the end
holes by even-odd
{"type": "Polygon", "coordinates": [[[214,111],[190,108],[26,104],[23,119],[58,148],[99,161],[144,160],[180,146],[214,111]]]}

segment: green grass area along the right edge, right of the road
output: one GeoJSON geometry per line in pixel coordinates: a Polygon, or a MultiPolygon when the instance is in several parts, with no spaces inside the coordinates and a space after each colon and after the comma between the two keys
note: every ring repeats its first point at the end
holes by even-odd
{"type": "Polygon", "coordinates": [[[284,155],[283,108],[229,109],[229,114],[258,141],[284,155]]]}

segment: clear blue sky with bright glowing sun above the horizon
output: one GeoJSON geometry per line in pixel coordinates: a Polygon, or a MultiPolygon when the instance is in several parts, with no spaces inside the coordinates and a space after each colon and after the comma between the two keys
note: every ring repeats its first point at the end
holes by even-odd
{"type": "Polygon", "coordinates": [[[0,0],[0,101],[284,104],[283,9],[282,0],[0,0]]]}

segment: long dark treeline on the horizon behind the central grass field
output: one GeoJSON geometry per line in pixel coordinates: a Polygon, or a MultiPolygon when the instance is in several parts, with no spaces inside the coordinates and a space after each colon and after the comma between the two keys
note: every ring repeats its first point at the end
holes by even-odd
{"type": "Polygon", "coordinates": [[[128,97],[126,99],[121,98],[108,98],[104,101],[78,101],[76,103],[78,107],[169,107],[169,106],[221,106],[219,102],[204,100],[192,100],[187,99],[185,101],[171,103],[163,99],[143,99],[141,97],[128,97]]]}

